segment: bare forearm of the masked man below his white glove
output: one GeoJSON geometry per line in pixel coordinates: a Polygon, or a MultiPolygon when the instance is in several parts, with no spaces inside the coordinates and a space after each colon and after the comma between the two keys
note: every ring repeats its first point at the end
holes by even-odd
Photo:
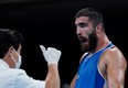
{"type": "Polygon", "coordinates": [[[60,88],[60,76],[57,65],[49,65],[49,72],[45,79],[45,88],[60,88]]]}

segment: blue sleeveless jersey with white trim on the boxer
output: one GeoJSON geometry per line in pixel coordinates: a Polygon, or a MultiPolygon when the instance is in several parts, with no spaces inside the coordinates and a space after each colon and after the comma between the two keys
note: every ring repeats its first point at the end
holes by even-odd
{"type": "Polygon", "coordinates": [[[94,54],[87,54],[79,64],[75,88],[104,88],[105,78],[98,69],[100,55],[114,46],[110,42],[106,47],[94,54]]]}

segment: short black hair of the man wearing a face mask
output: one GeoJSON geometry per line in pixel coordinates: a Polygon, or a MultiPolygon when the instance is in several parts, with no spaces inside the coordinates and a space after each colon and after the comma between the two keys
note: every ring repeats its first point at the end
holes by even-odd
{"type": "Polygon", "coordinates": [[[13,46],[15,50],[18,50],[22,41],[22,34],[18,31],[0,29],[0,58],[7,54],[10,46],[13,46]]]}

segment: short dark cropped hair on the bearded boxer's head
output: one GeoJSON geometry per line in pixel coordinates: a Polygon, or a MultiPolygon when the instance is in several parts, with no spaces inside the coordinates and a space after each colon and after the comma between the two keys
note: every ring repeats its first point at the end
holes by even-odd
{"type": "Polygon", "coordinates": [[[94,9],[94,8],[82,9],[75,15],[75,18],[79,18],[79,16],[88,16],[89,21],[92,21],[94,26],[102,23],[102,25],[104,28],[103,15],[102,15],[100,11],[97,9],[94,9]]]}

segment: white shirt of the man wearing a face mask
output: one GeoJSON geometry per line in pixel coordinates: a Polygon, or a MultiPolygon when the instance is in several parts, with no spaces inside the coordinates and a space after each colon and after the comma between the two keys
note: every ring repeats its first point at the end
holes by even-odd
{"type": "Polygon", "coordinates": [[[23,69],[10,68],[0,59],[0,88],[45,88],[45,81],[29,77],[23,69]]]}

